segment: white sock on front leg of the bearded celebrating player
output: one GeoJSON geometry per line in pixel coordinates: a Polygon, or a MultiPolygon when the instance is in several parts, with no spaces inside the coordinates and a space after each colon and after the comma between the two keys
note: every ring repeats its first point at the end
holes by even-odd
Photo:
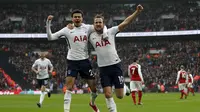
{"type": "Polygon", "coordinates": [[[117,112],[117,107],[113,98],[106,98],[106,105],[109,112],[117,112]]]}

